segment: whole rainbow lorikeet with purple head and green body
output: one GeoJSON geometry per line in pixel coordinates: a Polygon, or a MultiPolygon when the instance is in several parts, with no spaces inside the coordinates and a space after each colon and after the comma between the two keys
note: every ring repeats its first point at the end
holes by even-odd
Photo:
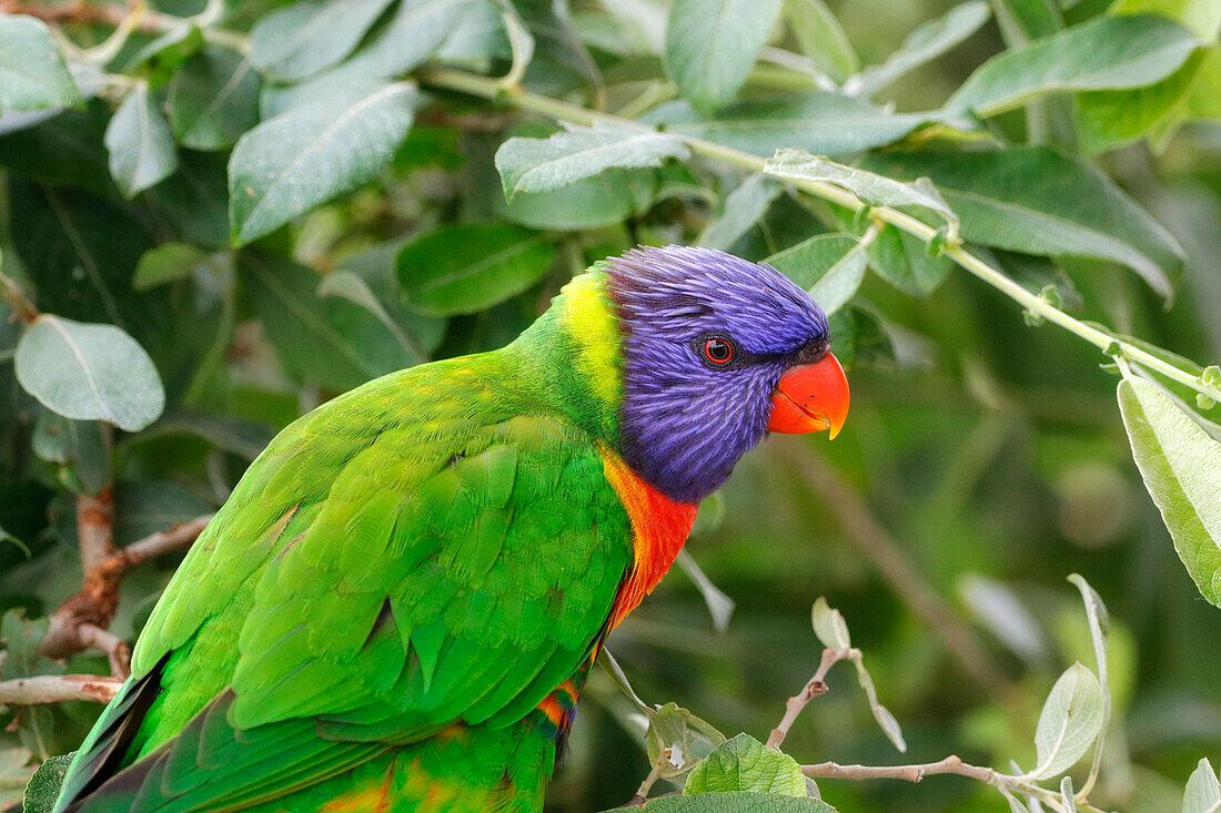
{"type": "Polygon", "coordinates": [[[607,634],[768,431],[839,431],[827,317],[645,248],[520,338],[281,432],[195,542],[57,812],[537,811],[607,634]]]}

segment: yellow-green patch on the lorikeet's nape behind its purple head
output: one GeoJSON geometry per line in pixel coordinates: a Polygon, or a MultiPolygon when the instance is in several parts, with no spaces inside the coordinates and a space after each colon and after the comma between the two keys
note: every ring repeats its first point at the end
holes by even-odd
{"type": "Polygon", "coordinates": [[[573,277],[564,286],[560,326],[576,348],[578,372],[590,382],[598,399],[618,406],[623,399],[621,334],[603,275],[597,271],[595,265],[591,272],[573,277]]]}

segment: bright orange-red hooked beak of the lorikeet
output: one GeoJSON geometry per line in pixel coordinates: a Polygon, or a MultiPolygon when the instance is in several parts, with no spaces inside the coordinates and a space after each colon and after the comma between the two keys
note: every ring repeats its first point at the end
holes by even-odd
{"type": "Polygon", "coordinates": [[[847,417],[847,402],[844,367],[828,353],[813,364],[802,364],[780,376],[772,396],[772,417],[767,427],[786,435],[830,430],[830,437],[835,437],[847,417]]]}

